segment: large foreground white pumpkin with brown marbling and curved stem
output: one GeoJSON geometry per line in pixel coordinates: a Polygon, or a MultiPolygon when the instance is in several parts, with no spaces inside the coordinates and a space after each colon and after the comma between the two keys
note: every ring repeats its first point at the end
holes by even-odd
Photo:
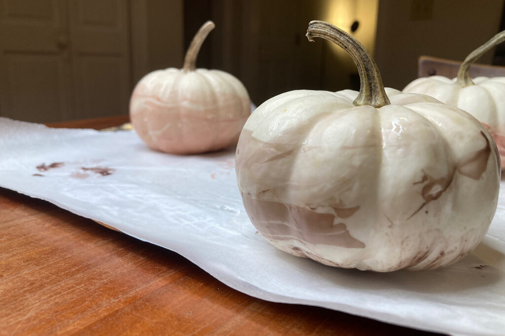
{"type": "Polygon", "coordinates": [[[384,92],[370,54],[344,31],[313,21],[307,32],[348,50],[361,90],[291,91],[252,113],[236,149],[252,224],[275,247],[332,266],[426,270],[461,259],[496,210],[487,130],[431,97],[384,92]]]}

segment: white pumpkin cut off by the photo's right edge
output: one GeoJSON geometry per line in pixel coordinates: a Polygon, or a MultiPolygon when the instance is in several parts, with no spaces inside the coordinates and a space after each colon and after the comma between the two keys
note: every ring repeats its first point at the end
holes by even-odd
{"type": "Polygon", "coordinates": [[[469,70],[475,60],[504,40],[505,31],[472,51],[461,64],[455,79],[443,76],[423,77],[403,89],[407,93],[432,96],[479,119],[496,143],[501,157],[501,169],[505,169],[505,77],[477,77],[472,80],[469,70]]]}

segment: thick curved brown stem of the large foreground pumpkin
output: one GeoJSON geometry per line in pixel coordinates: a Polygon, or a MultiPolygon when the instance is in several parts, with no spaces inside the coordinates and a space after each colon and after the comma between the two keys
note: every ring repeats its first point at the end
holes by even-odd
{"type": "Polygon", "coordinates": [[[342,47],[358,66],[360,75],[360,93],[353,104],[355,106],[371,105],[379,108],[391,102],[384,91],[382,77],[372,55],[357,39],[345,31],[324,21],[311,21],[307,28],[307,38],[321,37],[342,47]]]}

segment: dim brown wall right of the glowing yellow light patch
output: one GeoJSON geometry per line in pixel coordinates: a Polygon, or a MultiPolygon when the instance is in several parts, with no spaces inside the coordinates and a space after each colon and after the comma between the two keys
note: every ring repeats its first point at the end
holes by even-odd
{"type": "MultiPolygon", "coordinates": [[[[375,60],[384,84],[401,90],[412,82],[420,55],[463,61],[500,31],[502,20],[499,0],[381,0],[375,60]]],[[[491,64],[494,55],[478,62],[491,64]]]]}

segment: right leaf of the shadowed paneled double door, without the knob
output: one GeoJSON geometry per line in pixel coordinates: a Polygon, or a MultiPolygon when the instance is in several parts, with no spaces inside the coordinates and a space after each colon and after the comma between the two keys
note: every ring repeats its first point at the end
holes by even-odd
{"type": "Polygon", "coordinates": [[[70,34],[78,118],[128,113],[128,3],[72,0],[70,34]]]}

